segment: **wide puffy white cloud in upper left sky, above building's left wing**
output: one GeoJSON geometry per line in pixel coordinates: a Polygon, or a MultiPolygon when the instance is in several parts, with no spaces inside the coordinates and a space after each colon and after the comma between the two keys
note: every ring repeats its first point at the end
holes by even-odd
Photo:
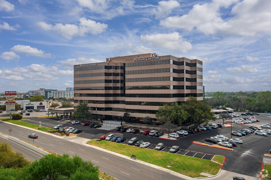
{"type": "Polygon", "coordinates": [[[62,24],[56,23],[54,26],[52,24],[46,24],[45,22],[38,22],[37,25],[42,29],[48,31],[56,31],[57,33],[64,36],[66,39],[72,39],[73,36],[85,36],[87,33],[100,34],[107,29],[107,24],[92,21],[82,17],[79,19],[79,26],[75,24],[62,24]]]}

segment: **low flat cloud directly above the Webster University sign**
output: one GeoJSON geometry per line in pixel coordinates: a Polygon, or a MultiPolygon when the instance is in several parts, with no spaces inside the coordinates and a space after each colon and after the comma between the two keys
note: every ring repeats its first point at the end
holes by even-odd
{"type": "Polygon", "coordinates": [[[66,59],[66,60],[61,60],[61,61],[56,61],[57,63],[60,63],[60,65],[56,65],[56,66],[61,66],[65,69],[73,69],[73,65],[76,64],[87,64],[87,63],[95,63],[95,62],[103,62],[103,61],[99,61],[97,59],[93,59],[93,58],[84,58],[84,57],[80,57],[80,58],[73,58],[73,59],[66,59]]]}

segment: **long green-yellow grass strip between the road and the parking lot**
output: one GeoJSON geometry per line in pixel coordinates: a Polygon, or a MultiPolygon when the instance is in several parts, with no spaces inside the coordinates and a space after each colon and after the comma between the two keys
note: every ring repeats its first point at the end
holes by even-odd
{"type": "MultiPolygon", "coordinates": [[[[135,146],[129,146],[126,144],[111,142],[111,141],[88,141],[87,144],[98,146],[100,148],[107,149],[109,151],[117,152],[125,155],[124,147],[126,148],[126,156],[136,155],[137,159],[145,161],[147,163],[155,164],[172,171],[176,171],[180,174],[196,177],[206,177],[200,175],[200,173],[217,174],[221,165],[219,163],[212,162],[207,159],[199,159],[190,156],[183,156],[174,153],[155,151],[152,149],[139,148],[135,146]],[[170,167],[168,167],[170,166],[170,167]]],[[[224,156],[223,160],[224,160],[224,156]]],[[[218,157],[217,159],[222,159],[218,157]]],[[[222,161],[223,162],[223,161],[222,161]]],[[[221,163],[222,163],[221,162],[221,163]]]]}

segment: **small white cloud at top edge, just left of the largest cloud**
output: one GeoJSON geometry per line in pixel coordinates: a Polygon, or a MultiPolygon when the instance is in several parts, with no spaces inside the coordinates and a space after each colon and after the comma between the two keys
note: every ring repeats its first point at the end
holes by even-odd
{"type": "Polygon", "coordinates": [[[160,1],[158,4],[157,9],[153,9],[153,14],[155,14],[156,19],[167,17],[172,9],[180,6],[179,2],[175,0],[160,1]]]}

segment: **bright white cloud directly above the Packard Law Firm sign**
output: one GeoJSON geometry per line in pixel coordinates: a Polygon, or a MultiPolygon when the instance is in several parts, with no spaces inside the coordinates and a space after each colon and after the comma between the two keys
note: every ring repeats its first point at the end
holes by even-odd
{"type": "Polygon", "coordinates": [[[165,48],[171,51],[187,52],[192,49],[191,43],[185,41],[179,32],[145,36],[141,35],[141,40],[154,47],[165,48]]]}

